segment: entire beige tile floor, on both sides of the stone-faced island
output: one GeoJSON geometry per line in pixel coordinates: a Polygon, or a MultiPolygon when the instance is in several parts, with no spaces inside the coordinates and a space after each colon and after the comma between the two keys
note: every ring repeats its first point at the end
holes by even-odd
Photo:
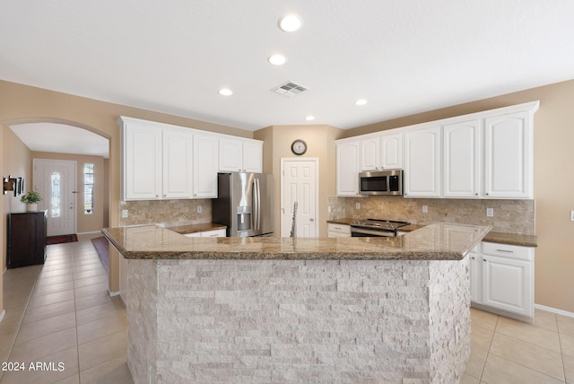
{"type": "MultiPolygon", "coordinates": [[[[48,246],[44,266],[4,274],[0,362],[62,362],[64,370],[0,371],[0,384],[133,383],[126,310],[109,297],[90,238],[48,246]]],[[[535,318],[530,325],[472,309],[472,352],[461,382],[574,384],[574,319],[541,310],[535,318]]]]}

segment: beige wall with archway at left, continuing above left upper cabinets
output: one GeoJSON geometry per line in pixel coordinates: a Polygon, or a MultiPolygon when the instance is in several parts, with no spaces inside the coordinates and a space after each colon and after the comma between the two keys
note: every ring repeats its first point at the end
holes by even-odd
{"type": "MultiPolygon", "coordinates": [[[[235,127],[226,127],[190,118],[180,118],[150,110],[136,109],[4,81],[0,81],[0,106],[0,130],[3,132],[3,135],[0,136],[3,139],[0,147],[2,148],[4,148],[4,137],[10,135],[8,127],[13,124],[30,122],[68,124],[88,129],[109,139],[109,226],[117,226],[118,223],[120,148],[119,127],[117,127],[116,120],[119,116],[143,118],[181,127],[192,127],[226,135],[253,138],[252,132],[235,127]]],[[[2,173],[8,171],[6,164],[2,164],[0,171],[2,173]]],[[[6,210],[4,204],[5,198],[3,204],[0,205],[0,217],[3,222],[2,231],[4,233],[2,239],[0,239],[1,249],[5,249],[4,220],[6,210]]],[[[110,254],[109,262],[109,290],[117,292],[117,254],[116,257],[110,254]]],[[[1,290],[2,285],[0,285],[0,296],[2,296],[1,290]]],[[[0,307],[0,312],[2,312],[2,307],[0,307]]]]}

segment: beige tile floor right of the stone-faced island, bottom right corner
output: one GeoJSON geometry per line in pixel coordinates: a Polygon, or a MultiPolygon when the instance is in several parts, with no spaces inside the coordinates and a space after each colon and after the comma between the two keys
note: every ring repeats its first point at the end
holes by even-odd
{"type": "Polygon", "coordinates": [[[574,319],[536,310],[535,324],[471,309],[464,384],[574,383],[574,319]]]}

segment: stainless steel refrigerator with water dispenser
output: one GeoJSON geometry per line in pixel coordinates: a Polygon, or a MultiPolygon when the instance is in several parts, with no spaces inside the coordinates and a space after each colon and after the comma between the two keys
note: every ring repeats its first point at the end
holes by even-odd
{"type": "Polygon", "coordinates": [[[269,236],[274,232],[273,175],[218,173],[212,222],[227,225],[227,236],[269,236]]]}

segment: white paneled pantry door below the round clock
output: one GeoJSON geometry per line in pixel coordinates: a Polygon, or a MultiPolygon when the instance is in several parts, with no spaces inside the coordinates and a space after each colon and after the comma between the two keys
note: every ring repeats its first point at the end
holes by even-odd
{"type": "Polygon", "coordinates": [[[281,237],[289,237],[293,206],[297,202],[296,237],[318,235],[318,159],[281,160],[281,237]]]}

